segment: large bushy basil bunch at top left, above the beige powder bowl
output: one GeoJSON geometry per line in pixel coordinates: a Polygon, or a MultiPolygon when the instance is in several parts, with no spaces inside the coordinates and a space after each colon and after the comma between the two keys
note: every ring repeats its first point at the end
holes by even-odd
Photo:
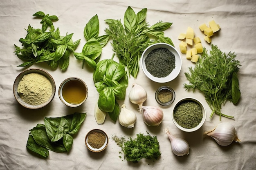
{"type": "Polygon", "coordinates": [[[22,47],[14,44],[15,54],[23,61],[19,66],[46,62],[53,69],[59,66],[65,71],[69,66],[70,54],[77,48],[80,40],[73,42],[73,33],[61,36],[59,29],[55,30],[53,21],[58,21],[56,15],[45,15],[42,11],[38,11],[33,16],[42,19],[40,22],[42,29],[34,29],[29,24],[27,35],[19,40],[22,47]]]}

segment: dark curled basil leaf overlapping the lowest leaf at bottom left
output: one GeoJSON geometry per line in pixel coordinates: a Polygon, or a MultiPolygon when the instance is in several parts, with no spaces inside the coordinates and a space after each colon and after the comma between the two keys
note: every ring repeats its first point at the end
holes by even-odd
{"type": "Polygon", "coordinates": [[[36,143],[39,144],[40,146],[43,146],[54,152],[67,152],[64,146],[50,141],[50,139],[47,136],[44,125],[37,125],[36,127],[30,130],[30,133],[36,141],[36,143]]]}

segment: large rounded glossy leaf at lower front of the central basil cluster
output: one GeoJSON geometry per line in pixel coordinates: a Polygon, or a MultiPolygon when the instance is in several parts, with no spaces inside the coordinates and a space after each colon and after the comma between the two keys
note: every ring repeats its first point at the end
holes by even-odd
{"type": "Polygon", "coordinates": [[[115,107],[115,94],[111,87],[106,87],[99,93],[99,109],[105,112],[112,112],[115,107]]]}

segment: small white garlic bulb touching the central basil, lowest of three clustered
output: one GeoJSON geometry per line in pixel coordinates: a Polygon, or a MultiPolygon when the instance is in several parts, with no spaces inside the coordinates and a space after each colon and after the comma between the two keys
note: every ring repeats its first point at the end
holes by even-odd
{"type": "Polygon", "coordinates": [[[126,128],[133,128],[136,122],[136,115],[131,110],[125,108],[125,104],[121,106],[121,111],[118,117],[119,124],[126,128]]]}

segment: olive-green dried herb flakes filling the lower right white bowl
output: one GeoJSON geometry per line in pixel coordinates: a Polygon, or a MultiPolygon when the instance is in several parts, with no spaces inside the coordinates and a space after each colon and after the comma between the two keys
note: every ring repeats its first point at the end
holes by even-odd
{"type": "Polygon", "coordinates": [[[193,101],[182,102],[174,109],[174,119],[183,128],[195,128],[200,124],[202,118],[201,106],[193,101]]]}

